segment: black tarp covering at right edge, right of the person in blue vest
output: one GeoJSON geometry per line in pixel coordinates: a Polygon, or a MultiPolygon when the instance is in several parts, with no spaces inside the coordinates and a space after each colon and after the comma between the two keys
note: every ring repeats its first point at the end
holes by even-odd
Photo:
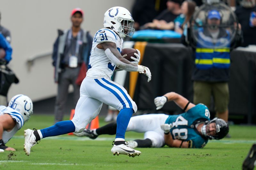
{"type": "Polygon", "coordinates": [[[229,113],[245,115],[248,123],[256,123],[256,52],[231,52],[229,81],[229,113]]]}

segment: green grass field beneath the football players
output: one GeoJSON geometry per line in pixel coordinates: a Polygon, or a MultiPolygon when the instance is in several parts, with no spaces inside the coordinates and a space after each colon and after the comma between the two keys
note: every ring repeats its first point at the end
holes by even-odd
{"type": "MultiPolygon", "coordinates": [[[[68,117],[66,117],[68,119],[68,117]]],[[[212,140],[203,149],[139,148],[134,158],[110,152],[115,136],[96,140],[62,135],[42,139],[32,147],[30,156],[23,151],[23,130],[51,126],[53,116],[32,115],[31,119],[6,144],[16,152],[0,153],[0,169],[241,169],[252,143],[256,126],[230,126],[231,138],[212,140]]],[[[100,126],[106,124],[100,119],[100,126]]],[[[142,133],[127,132],[126,140],[143,138],[142,133]]]]}

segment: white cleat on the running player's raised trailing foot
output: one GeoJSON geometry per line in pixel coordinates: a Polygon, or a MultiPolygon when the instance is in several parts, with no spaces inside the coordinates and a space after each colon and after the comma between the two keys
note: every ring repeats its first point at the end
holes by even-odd
{"type": "Polygon", "coordinates": [[[36,136],[34,135],[33,132],[34,130],[31,130],[31,129],[24,130],[24,137],[25,137],[24,151],[28,156],[30,155],[31,147],[36,144],[36,136]]]}

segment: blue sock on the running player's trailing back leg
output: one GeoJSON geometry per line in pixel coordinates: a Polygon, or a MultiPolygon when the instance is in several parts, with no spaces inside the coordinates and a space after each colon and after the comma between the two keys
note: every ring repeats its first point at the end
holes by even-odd
{"type": "Polygon", "coordinates": [[[72,121],[61,121],[55,123],[55,125],[50,126],[48,128],[41,129],[41,133],[44,137],[52,137],[63,135],[71,132],[75,132],[76,127],[72,121]]]}

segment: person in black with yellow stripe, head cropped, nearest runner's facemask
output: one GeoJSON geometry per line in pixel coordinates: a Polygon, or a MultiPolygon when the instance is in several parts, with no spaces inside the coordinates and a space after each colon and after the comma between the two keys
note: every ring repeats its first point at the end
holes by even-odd
{"type": "Polygon", "coordinates": [[[136,0],[132,7],[133,28],[138,30],[140,26],[151,22],[160,12],[166,9],[167,0],[136,0]]]}

